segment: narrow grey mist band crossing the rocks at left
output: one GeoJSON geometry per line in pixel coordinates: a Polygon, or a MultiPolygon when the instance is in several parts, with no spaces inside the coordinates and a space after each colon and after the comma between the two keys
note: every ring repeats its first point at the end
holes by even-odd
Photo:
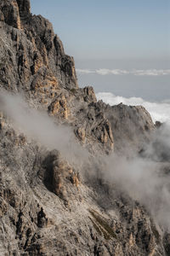
{"type": "Polygon", "coordinates": [[[0,110],[13,121],[17,130],[36,140],[48,149],[58,149],[69,161],[87,157],[74,136],[71,127],[60,125],[48,113],[31,108],[20,95],[1,91],[0,110]]]}

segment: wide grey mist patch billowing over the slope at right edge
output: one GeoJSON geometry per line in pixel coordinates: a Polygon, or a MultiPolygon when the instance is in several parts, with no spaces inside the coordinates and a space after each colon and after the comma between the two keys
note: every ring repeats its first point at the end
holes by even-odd
{"type": "MultiPolygon", "coordinates": [[[[157,224],[170,231],[170,126],[162,125],[152,134],[143,151],[129,157],[105,156],[101,177],[110,188],[118,188],[139,201],[157,224]]],[[[98,174],[99,175],[99,174],[98,174]]],[[[113,191],[114,192],[114,191],[113,191]]]]}

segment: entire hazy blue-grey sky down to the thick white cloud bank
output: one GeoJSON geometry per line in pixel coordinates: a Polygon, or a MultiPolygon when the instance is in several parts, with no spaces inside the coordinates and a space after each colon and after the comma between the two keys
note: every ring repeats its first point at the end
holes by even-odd
{"type": "Polygon", "coordinates": [[[79,84],[122,96],[170,98],[170,73],[163,73],[170,69],[169,0],[31,0],[31,11],[53,23],[81,69],[79,84]],[[96,73],[101,68],[109,72],[96,73]]]}

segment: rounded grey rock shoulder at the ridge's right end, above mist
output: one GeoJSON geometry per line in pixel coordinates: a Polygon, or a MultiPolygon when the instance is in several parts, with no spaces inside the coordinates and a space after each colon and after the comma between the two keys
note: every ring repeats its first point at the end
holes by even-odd
{"type": "Polygon", "coordinates": [[[150,132],[154,131],[150,113],[142,106],[106,105],[99,101],[96,108],[102,109],[105,118],[111,122],[116,151],[129,152],[130,148],[140,149],[143,143],[150,140],[150,132]]]}

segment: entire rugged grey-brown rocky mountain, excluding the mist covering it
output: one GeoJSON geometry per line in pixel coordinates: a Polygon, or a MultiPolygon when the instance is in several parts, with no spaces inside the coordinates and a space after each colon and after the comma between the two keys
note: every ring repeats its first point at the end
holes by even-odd
{"type": "Polygon", "coordinates": [[[89,154],[74,165],[0,109],[0,255],[170,255],[170,235],[150,212],[100,175],[103,158],[150,142],[150,114],[79,88],[73,57],[29,0],[0,3],[0,88],[0,102],[4,91],[22,94],[89,154]]]}

